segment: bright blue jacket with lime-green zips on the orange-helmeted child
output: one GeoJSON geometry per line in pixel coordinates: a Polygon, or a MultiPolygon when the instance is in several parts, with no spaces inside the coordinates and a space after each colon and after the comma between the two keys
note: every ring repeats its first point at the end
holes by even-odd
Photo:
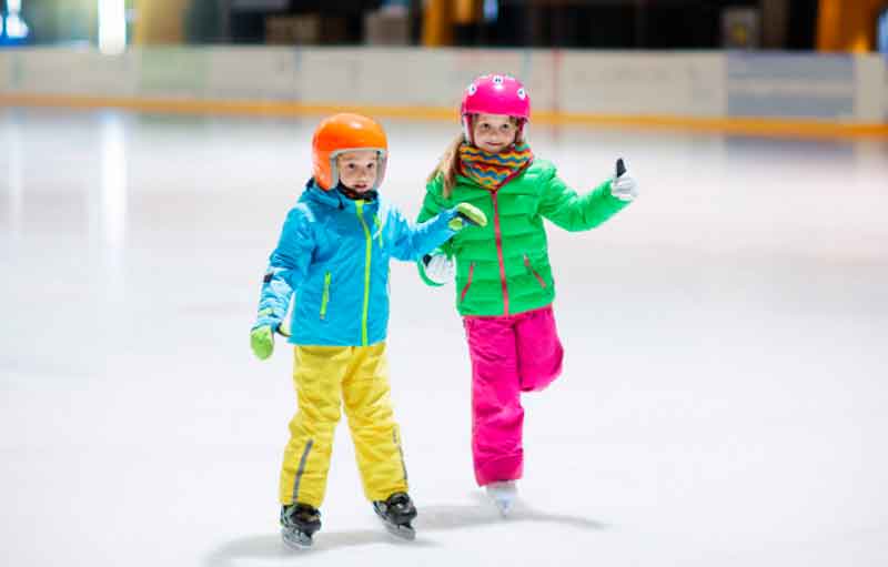
{"type": "Polygon", "coordinates": [[[290,342],[367,346],[389,326],[389,260],[415,262],[453,236],[443,211],[414,225],[379,196],[352,201],[310,181],[284,222],[255,326],[278,330],[295,292],[290,342]]]}

